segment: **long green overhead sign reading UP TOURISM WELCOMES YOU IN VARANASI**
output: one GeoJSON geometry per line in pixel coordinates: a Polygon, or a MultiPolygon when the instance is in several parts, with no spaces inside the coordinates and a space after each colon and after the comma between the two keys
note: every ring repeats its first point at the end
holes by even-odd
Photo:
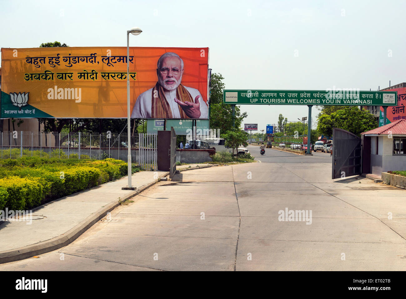
{"type": "Polygon", "coordinates": [[[224,89],[225,104],[397,106],[397,92],[224,89]]]}

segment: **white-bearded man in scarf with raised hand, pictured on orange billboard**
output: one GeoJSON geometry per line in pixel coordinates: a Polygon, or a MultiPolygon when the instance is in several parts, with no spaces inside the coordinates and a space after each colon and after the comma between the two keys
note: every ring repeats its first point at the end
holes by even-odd
{"type": "Polygon", "coordinates": [[[204,118],[208,106],[199,90],[181,84],[183,60],[173,52],[158,59],[158,82],[140,94],[132,110],[132,118],[204,118]]]}

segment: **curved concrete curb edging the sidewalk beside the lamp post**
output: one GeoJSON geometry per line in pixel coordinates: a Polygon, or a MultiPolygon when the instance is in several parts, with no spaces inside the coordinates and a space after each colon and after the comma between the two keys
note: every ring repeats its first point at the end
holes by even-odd
{"type": "MultiPolygon", "coordinates": [[[[169,175],[169,172],[164,172],[160,177],[166,177],[169,175]]],[[[59,249],[61,247],[64,247],[68,245],[69,243],[73,242],[76,240],[80,235],[82,235],[85,231],[87,231],[89,228],[91,228],[97,221],[100,219],[104,218],[106,214],[114,208],[118,207],[121,202],[126,201],[127,199],[130,199],[140,192],[143,192],[145,189],[148,189],[155,183],[159,181],[159,179],[154,179],[150,183],[146,183],[140,188],[129,192],[127,195],[125,195],[122,199],[119,201],[113,201],[106,206],[104,206],[102,209],[97,210],[97,212],[93,213],[92,215],[88,216],[86,219],[84,219],[81,223],[67,231],[65,234],[62,234],[60,236],[57,236],[55,238],[52,238],[50,240],[46,240],[43,242],[39,242],[37,244],[31,244],[27,245],[24,247],[19,247],[16,249],[12,250],[6,250],[6,251],[0,251],[0,264],[8,263],[8,262],[15,262],[18,260],[24,260],[26,258],[32,258],[35,255],[40,255],[43,253],[47,253],[50,251],[54,251],[56,249],[59,249]]]]}

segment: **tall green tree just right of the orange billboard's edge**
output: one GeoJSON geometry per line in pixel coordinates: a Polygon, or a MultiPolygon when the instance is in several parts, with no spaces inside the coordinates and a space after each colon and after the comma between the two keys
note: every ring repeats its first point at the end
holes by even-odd
{"type": "MultiPolygon", "coordinates": [[[[221,74],[212,74],[210,88],[210,128],[226,132],[233,128],[233,109],[231,105],[223,103],[223,89],[221,74]]],[[[241,113],[240,107],[235,106],[235,127],[240,128],[241,123],[248,114],[241,113]]]]}

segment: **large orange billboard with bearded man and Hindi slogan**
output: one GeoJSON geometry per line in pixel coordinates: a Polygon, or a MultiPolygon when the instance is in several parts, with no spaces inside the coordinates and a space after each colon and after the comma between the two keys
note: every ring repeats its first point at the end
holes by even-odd
{"type": "MultiPolygon", "coordinates": [[[[130,48],[132,118],[208,119],[209,48],[130,48]]],[[[126,47],[2,48],[2,118],[126,118],[126,47]]]]}

